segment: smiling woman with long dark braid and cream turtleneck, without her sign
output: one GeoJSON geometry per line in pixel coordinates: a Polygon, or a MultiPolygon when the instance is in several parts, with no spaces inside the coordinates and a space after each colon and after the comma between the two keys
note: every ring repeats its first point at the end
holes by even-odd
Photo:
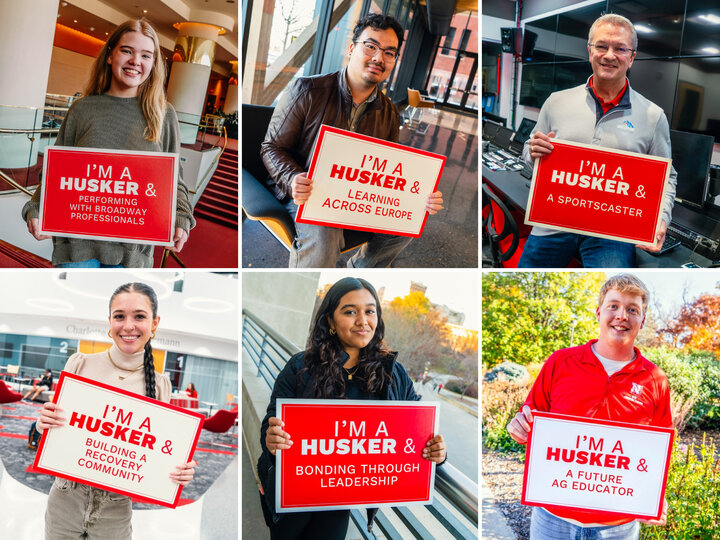
{"type": "MultiPolygon", "coordinates": [[[[110,297],[110,329],[113,345],[105,352],[72,355],[64,371],[75,373],[123,390],[169,402],[170,379],[155,372],[152,345],[160,322],[155,291],[144,283],[127,283],[110,297]]],[[[38,431],[62,426],[63,410],[45,403],[38,431]]],[[[195,461],[178,465],[170,478],[182,485],[192,480],[195,461]]],[[[45,512],[45,538],[117,540],[132,537],[132,501],[102,489],[56,478],[45,512]]]]}

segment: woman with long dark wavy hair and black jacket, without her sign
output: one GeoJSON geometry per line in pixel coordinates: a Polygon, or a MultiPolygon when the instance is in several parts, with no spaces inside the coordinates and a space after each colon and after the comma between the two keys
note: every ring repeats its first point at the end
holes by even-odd
{"type": "MultiPolygon", "coordinates": [[[[263,453],[258,473],[263,486],[265,520],[273,540],[345,538],[349,510],[274,512],[274,468],[277,450],[293,444],[276,415],[278,398],[305,399],[420,399],[397,354],[385,345],[385,323],[373,286],[359,278],[343,278],[328,290],[315,315],[305,351],[288,360],[275,380],[267,414],[262,422],[263,453]]],[[[442,435],[431,438],[423,458],[445,461],[442,435]]],[[[371,518],[372,519],[372,518],[371,518]]]]}

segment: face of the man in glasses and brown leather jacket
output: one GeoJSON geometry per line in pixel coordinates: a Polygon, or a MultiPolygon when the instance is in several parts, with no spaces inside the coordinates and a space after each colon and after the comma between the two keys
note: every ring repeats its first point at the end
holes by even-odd
{"type": "Polygon", "coordinates": [[[388,78],[395,62],[385,60],[383,52],[379,49],[374,56],[368,56],[362,42],[369,41],[382,49],[397,50],[397,34],[391,28],[375,30],[368,26],[356,41],[357,43],[350,44],[350,63],[348,64],[347,76],[356,84],[376,86],[388,78]]]}

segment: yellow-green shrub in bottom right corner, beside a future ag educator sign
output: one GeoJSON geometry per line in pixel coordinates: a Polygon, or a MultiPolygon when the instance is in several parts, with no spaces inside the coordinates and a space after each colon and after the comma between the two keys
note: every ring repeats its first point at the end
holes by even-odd
{"type": "Polygon", "coordinates": [[[667,525],[643,525],[641,538],[717,538],[720,526],[720,460],[715,443],[676,444],[668,475],[667,525]]]}

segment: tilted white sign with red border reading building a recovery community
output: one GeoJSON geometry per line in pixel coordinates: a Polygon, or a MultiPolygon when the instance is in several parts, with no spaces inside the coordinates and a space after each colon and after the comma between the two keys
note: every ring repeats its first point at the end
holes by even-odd
{"type": "Polygon", "coordinates": [[[169,474],[195,452],[203,416],[63,371],[53,401],[67,418],[43,432],[34,468],[175,508],[169,474]]]}

